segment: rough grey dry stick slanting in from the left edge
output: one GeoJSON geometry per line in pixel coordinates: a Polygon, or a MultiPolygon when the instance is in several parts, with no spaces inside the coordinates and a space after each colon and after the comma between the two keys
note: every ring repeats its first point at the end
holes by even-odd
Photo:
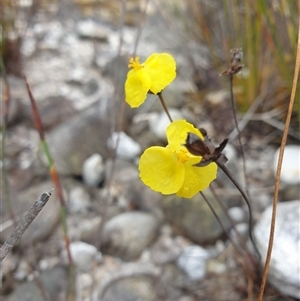
{"type": "Polygon", "coordinates": [[[11,251],[11,249],[16,245],[19,241],[23,233],[26,231],[28,226],[33,222],[33,220],[37,217],[40,213],[42,208],[48,202],[51,192],[51,189],[48,192],[44,192],[39,199],[33,204],[33,206],[29,209],[26,215],[21,219],[17,227],[14,229],[13,233],[9,237],[9,239],[4,243],[1,247],[0,251],[0,262],[6,257],[6,255],[11,251]]]}

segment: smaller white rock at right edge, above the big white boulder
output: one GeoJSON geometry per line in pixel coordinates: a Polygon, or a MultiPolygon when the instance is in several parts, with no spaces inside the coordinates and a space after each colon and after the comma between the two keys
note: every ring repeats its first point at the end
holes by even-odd
{"type": "MultiPolygon", "coordinates": [[[[279,157],[279,149],[274,154],[273,170],[276,174],[279,157]]],[[[300,147],[298,145],[287,145],[281,169],[281,180],[286,184],[297,184],[300,182],[300,147]]]]}

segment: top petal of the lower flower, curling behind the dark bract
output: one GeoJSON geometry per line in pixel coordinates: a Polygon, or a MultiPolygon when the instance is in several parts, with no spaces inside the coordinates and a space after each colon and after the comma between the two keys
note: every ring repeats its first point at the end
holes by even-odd
{"type": "Polygon", "coordinates": [[[172,151],[178,151],[185,144],[188,133],[193,133],[203,140],[201,132],[186,120],[176,120],[168,126],[166,134],[172,151]]]}

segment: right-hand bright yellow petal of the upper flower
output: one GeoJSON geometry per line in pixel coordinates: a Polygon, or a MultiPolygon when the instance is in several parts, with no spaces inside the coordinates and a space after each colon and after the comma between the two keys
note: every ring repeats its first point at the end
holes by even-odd
{"type": "Polygon", "coordinates": [[[176,77],[176,63],[168,53],[153,53],[144,63],[144,70],[151,78],[150,91],[161,92],[176,77]]]}

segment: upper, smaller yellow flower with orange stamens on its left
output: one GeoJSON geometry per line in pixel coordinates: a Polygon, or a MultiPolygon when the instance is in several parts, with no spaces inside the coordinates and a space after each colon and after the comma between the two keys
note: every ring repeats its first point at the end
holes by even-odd
{"type": "Polygon", "coordinates": [[[132,107],[139,107],[147,93],[157,94],[169,85],[176,76],[176,63],[168,53],[153,53],[145,63],[140,58],[131,58],[125,82],[125,100],[132,107]]]}

